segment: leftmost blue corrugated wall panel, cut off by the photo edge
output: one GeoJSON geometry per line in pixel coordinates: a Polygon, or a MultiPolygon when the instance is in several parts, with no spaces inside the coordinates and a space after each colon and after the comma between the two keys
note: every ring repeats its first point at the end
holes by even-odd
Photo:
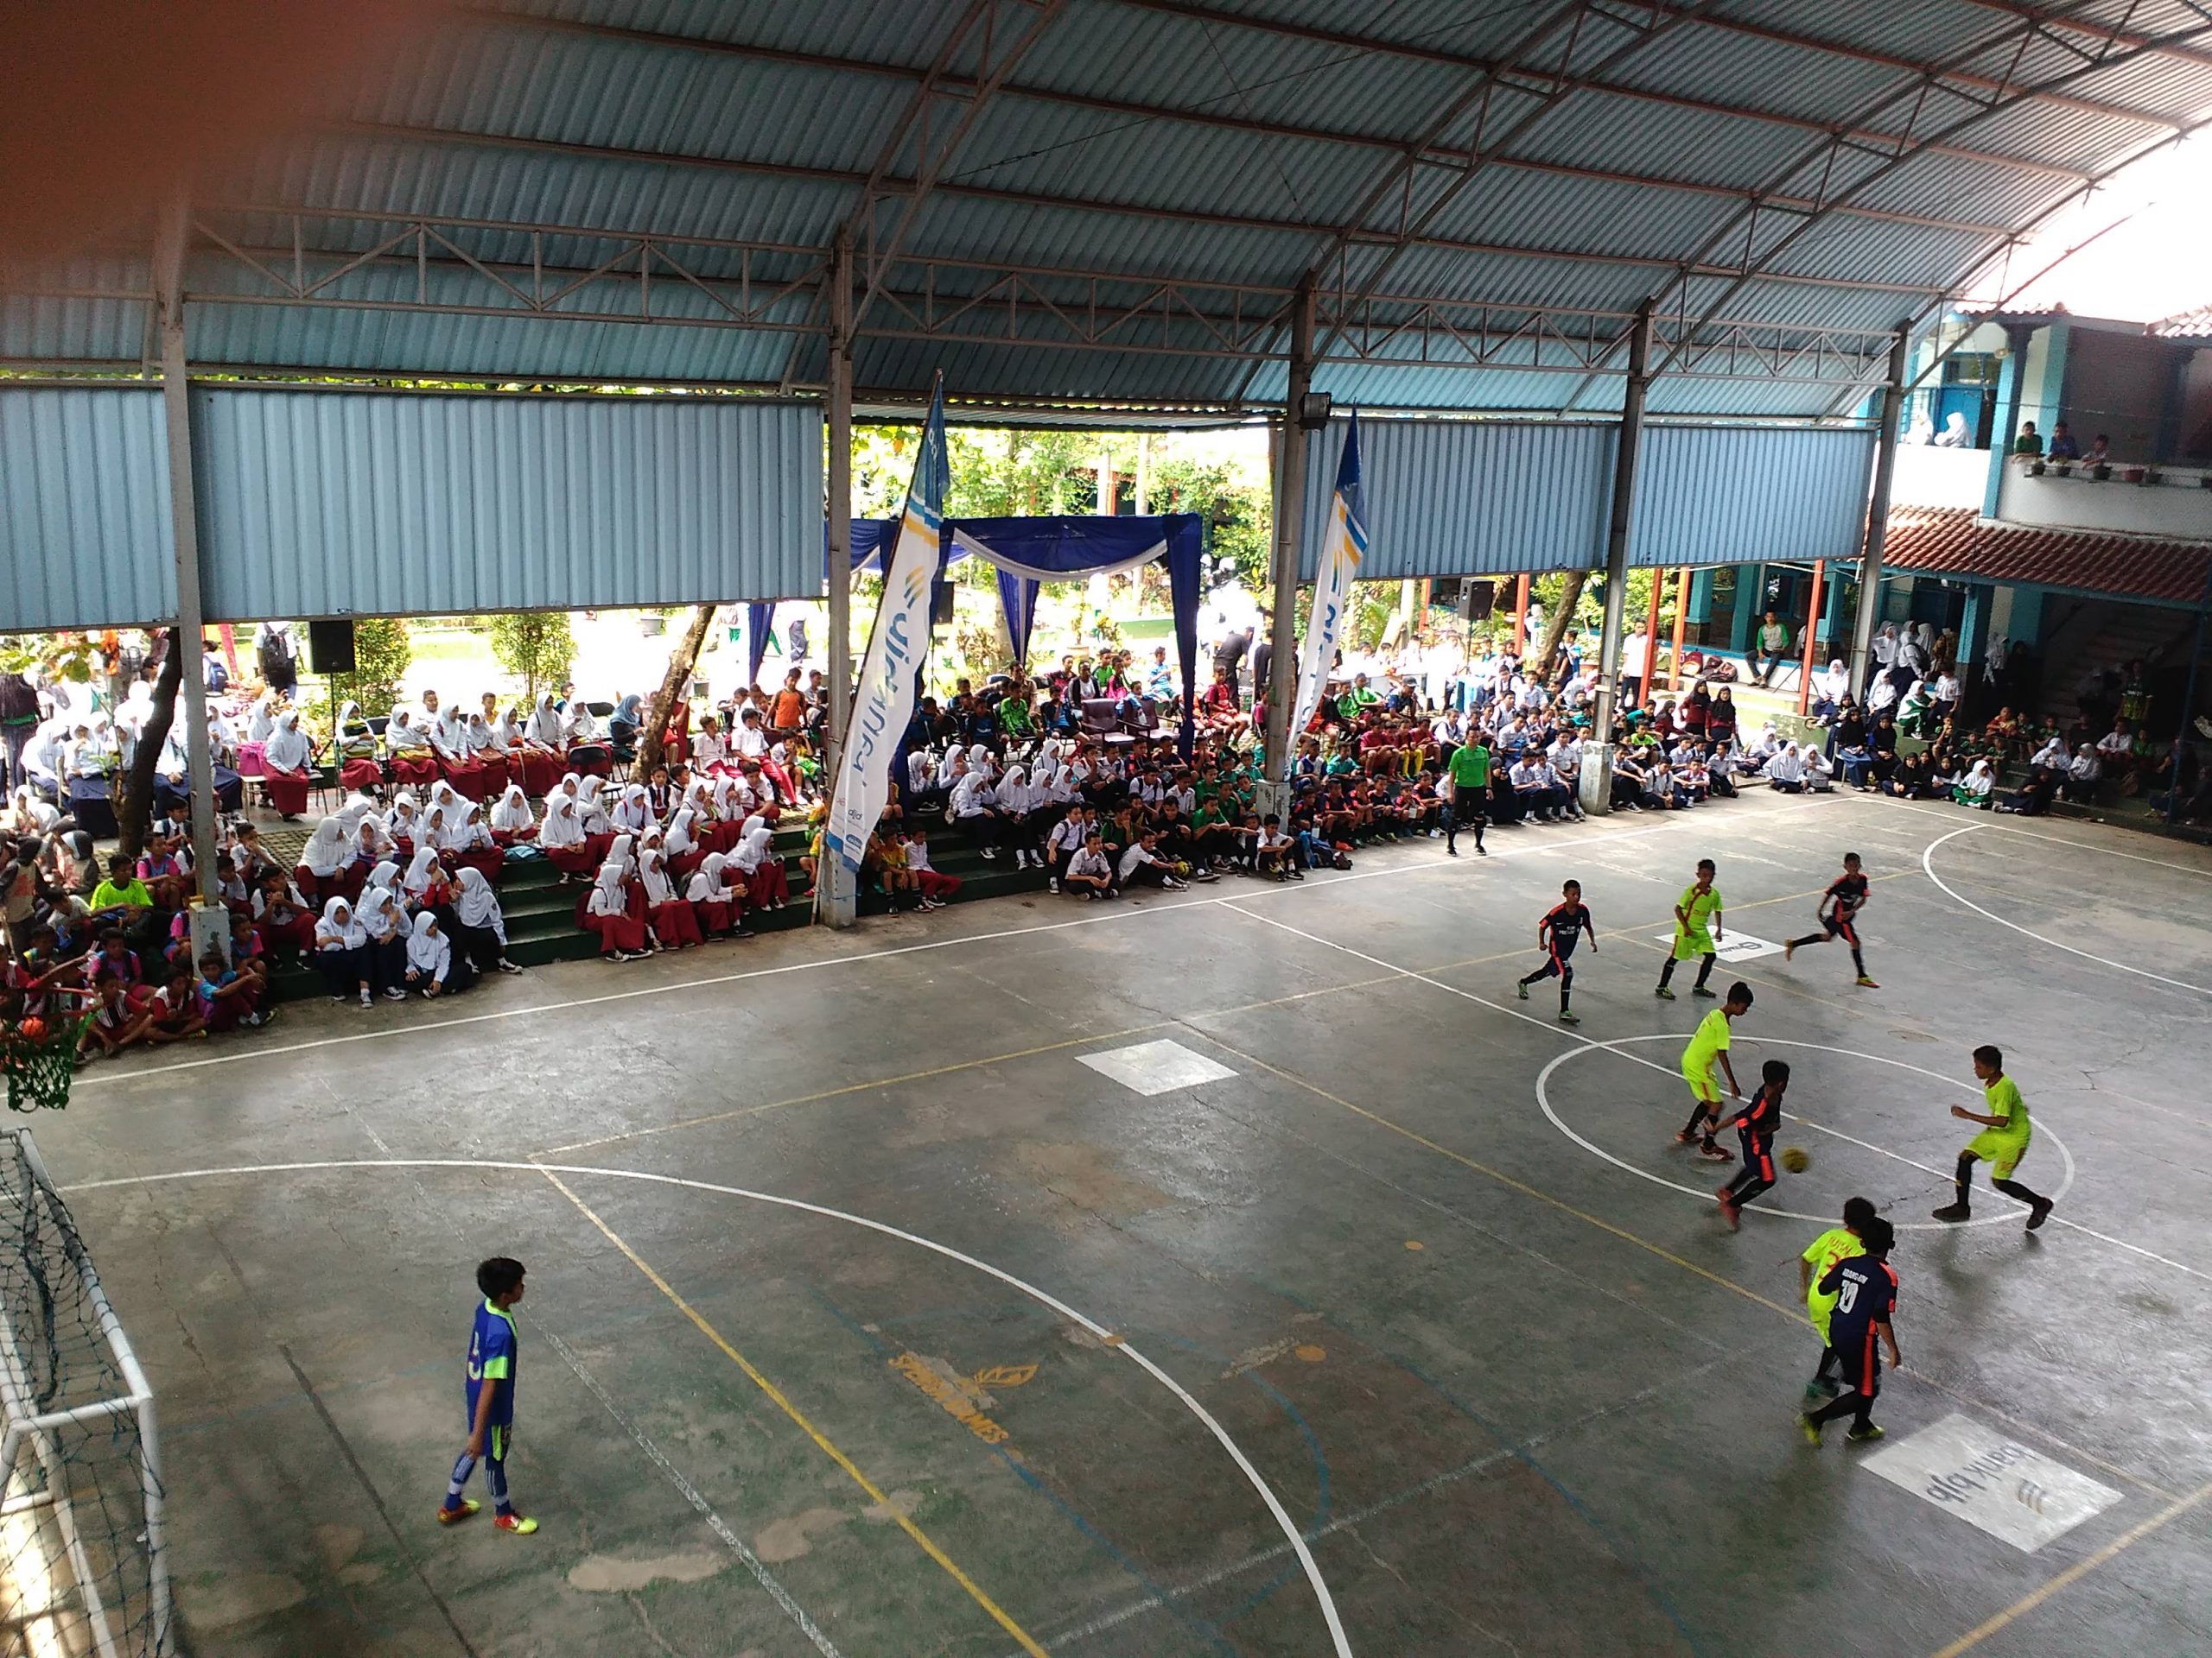
{"type": "Polygon", "coordinates": [[[159,391],[0,389],[0,632],[177,615],[168,522],[159,391]]]}

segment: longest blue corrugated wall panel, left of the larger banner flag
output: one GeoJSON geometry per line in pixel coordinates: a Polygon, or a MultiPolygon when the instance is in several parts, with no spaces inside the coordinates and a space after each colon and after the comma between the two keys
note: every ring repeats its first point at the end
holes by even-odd
{"type": "Polygon", "coordinates": [[[812,405],[192,396],[210,617],[821,592],[812,405]]]}

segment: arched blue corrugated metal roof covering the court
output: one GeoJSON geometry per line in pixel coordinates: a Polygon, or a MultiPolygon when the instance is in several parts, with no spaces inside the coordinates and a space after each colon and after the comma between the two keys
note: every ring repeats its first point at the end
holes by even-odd
{"type": "MultiPolygon", "coordinates": [[[[1035,11],[1000,2],[991,42],[1002,53],[1035,11]]],[[[1279,393],[1281,332],[1232,360],[1190,338],[1203,327],[1170,329],[1166,351],[1126,351],[1113,336],[1075,351],[1044,316],[995,332],[975,314],[949,327],[914,321],[925,294],[984,290],[1004,267],[1033,272],[1053,305],[1086,303],[1071,281],[1119,272],[1270,290],[1272,301],[1250,296],[1265,312],[1314,274],[1396,298],[1626,312],[1644,296],[1670,307],[1688,296],[1770,329],[1882,329],[1931,309],[2006,232],[2077,192],[2068,170],[2112,166],[2157,139],[2159,122],[2212,117],[2212,20],[2181,0],[2110,0],[2039,18],[2042,33],[1986,0],[1717,0],[1694,15],[1661,7],[1648,38],[1639,29],[1655,13],[1637,7],[1546,31],[1557,7],[1066,0],[1011,66],[980,66],[980,33],[953,51],[931,133],[962,119],[978,77],[1004,71],[1004,84],[909,214],[922,164],[911,130],[891,139],[964,15],[967,0],[509,0],[504,15],[462,13],[325,97],[332,117],[319,130],[204,190],[204,217],[226,237],[285,256],[288,208],[323,214],[301,221],[299,241],[327,256],[369,250],[416,217],[480,221],[440,232],[460,252],[427,252],[434,312],[369,309],[407,303],[394,296],[409,279],[387,265],[301,301],[201,250],[192,354],[524,378],[810,378],[818,343],[688,327],[672,294],[675,321],[639,325],[624,316],[619,281],[571,294],[566,309],[604,312],[588,321],[476,305],[482,281],[467,259],[588,272],[615,245],[586,232],[695,237],[723,243],[688,256],[697,274],[774,281],[765,254],[734,243],[818,259],[838,225],[865,221],[863,181],[878,161],[891,195],[872,232],[911,221],[909,261],[860,318],[863,385],[876,396],[918,396],[938,367],[978,378],[956,391],[991,396],[1190,405],[1279,393]],[[2170,33],[2188,51],[2124,42],[2093,66],[2090,18],[2124,24],[2130,40],[2170,33]],[[1922,71],[1940,71],[1927,93],[1916,91],[1922,71]],[[1989,104],[2000,106],[1982,113],[1989,104]],[[1832,155],[1829,130],[1871,137],[1832,155]],[[1942,144],[1887,168],[1880,135],[1907,130],[1942,144]],[[1473,177],[1467,148],[1489,157],[1473,177]],[[1787,208],[1754,219],[1745,201],[1838,190],[1849,210],[1803,234],[1787,208]],[[549,234],[529,243],[531,225],[549,234]],[[1400,243],[1400,228],[1413,239],[1400,243]],[[1325,261],[1345,245],[1345,259],[1325,261]],[[1741,281],[1710,274],[1745,256],[1741,281]],[[1690,261],[1701,270],[1681,276],[1690,261]]],[[[860,241],[865,256],[869,230],[860,241]]],[[[142,265],[97,283],[11,281],[38,298],[0,296],[7,358],[135,360],[142,265]]],[[[692,323],[714,314],[699,301],[692,323]]],[[[1230,301],[1214,290],[1190,303],[1230,301]]],[[[825,307],[807,296],[801,314],[821,323],[825,307]]],[[[1433,360],[1409,349],[1396,365],[1325,365],[1321,380],[1444,409],[1566,402],[1577,389],[1577,407],[1604,402],[1604,389],[1548,363],[1433,360]]],[[[1655,407],[1816,416],[1840,391],[1683,382],[1655,391],[1655,407]]]]}

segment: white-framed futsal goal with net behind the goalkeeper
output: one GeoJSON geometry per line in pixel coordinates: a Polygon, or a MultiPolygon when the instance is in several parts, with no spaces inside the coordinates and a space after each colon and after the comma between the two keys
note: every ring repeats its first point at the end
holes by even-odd
{"type": "Polygon", "coordinates": [[[0,1651],[170,1658],[153,1391],[27,1130],[0,1130],[0,1651]]]}

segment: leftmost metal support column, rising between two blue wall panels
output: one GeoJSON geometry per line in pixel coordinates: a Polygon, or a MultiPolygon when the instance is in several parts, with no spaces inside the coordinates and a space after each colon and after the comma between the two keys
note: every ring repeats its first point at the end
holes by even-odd
{"type": "Polygon", "coordinates": [[[215,844],[215,752],[208,745],[208,679],[201,663],[206,615],[199,599],[199,504],[192,484],[192,389],[184,358],[184,243],[190,210],[184,197],[161,212],[155,234],[155,309],[161,334],[161,413],[168,424],[168,515],[177,555],[177,652],[184,692],[184,749],[192,776],[192,875],[199,904],[192,909],[192,957],[217,948],[230,957],[230,917],[217,893],[219,851],[215,844]]]}

